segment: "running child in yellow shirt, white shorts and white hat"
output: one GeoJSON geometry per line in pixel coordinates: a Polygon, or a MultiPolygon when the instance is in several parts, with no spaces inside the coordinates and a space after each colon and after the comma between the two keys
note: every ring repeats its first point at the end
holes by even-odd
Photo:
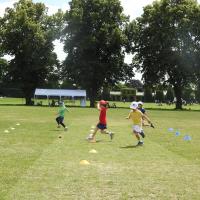
{"type": "Polygon", "coordinates": [[[133,133],[135,134],[138,140],[137,145],[140,146],[144,144],[144,142],[140,138],[140,134],[142,132],[142,120],[146,119],[150,124],[151,121],[146,115],[144,115],[140,110],[137,109],[138,108],[137,102],[132,102],[130,108],[132,110],[129,113],[128,117],[126,117],[126,119],[131,119],[133,121],[133,133]]]}

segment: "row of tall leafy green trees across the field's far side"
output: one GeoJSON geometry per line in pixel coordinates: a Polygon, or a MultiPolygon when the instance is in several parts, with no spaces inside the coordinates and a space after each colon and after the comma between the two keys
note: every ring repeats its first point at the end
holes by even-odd
{"type": "Polygon", "coordinates": [[[48,15],[43,3],[19,0],[0,17],[0,86],[20,88],[31,104],[36,87],[87,90],[94,107],[100,92],[143,74],[145,87],[172,86],[176,108],[185,88],[200,91],[200,5],[160,0],[130,21],[120,0],[71,0],[48,15]],[[53,42],[64,43],[59,62],[53,42]],[[124,63],[126,53],[132,64],[124,63]],[[10,61],[4,55],[12,56],[10,61]]]}

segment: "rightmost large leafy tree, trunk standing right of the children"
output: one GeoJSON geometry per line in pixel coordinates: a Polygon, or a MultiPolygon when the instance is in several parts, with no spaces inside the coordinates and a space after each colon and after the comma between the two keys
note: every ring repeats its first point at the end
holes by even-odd
{"type": "Polygon", "coordinates": [[[146,84],[173,85],[176,109],[182,109],[182,91],[199,66],[200,7],[195,0],[161,0],[144,8],[137,24],[134,66],[146,84]]]}

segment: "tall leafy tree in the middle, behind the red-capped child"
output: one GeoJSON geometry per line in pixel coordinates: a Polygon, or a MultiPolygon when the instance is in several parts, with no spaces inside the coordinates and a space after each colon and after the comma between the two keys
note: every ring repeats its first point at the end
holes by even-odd
{"type": "Polygon", "coordinates": [[[128,18],[119,0],[72,0],[63,32],[66,76],[87,90],[90,106],[105,85],[133,75],[124,64],[128,18]]]}

